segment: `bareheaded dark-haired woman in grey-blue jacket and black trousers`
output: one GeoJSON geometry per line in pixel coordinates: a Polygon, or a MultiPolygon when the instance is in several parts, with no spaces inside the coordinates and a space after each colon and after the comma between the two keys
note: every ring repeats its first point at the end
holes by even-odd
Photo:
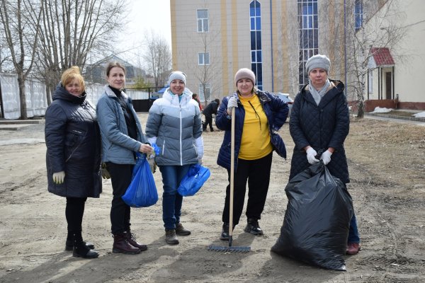
{"type": "Polygon", "coordinates": [[[113,200],[111,207],[111,230],[113,253],[135,254],[147,250],[146,245],[135,241],[130,231],[130,207],[121,198],[132,179],[135,153],[152,152],[132,106],[132,100],[122,91],[125,68],[111,62],[106,68],[109,85],[96,105],[102,137],[102,162],[111,175],[113,200]]]}

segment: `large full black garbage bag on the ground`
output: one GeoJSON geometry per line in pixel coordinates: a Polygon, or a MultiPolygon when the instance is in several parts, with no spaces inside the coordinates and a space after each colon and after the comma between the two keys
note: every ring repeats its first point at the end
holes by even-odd
{"type": "Polygon", "coordinates": [[[346,270],[348,229],[353,202],[346,186],[321,161],[295,175],[274,253],[329,270],[346,270]]]}

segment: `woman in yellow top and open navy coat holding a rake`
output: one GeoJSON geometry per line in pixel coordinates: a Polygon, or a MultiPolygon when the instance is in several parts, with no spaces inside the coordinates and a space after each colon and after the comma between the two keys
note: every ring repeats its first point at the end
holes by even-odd
{"type": "MultiPolygon", "coordinates": [[[[286,158],[285,144],[276,132],[285,123],[289,108],[279,98],[254,88],[255,74],[250,69],[239,69],[234,82],[237,91],[232,96],[223,98],[215,120],[215,125],[225,130],[217,164],[227,169],[230,180],[230,115],[232,108],[235,108],[233,228],[239,224],[248,183],[247,224],[244,231],[263,235],[259,219],[266,203],[273,150],[286,158]]],[[[222,213],[222,241],[229,240],[229,192],[230,185],[227,185],[222,213]]]]}

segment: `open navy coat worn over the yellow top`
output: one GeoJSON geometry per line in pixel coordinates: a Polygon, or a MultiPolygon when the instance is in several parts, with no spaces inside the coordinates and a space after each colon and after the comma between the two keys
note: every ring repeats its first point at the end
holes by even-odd
{"type": "MultiPolygon", "coordinates": [[[[273,149],[279,156],[286,158],[286,148],[283,139],[276,132],[283,126],[288,117],[289,108],[279,98],[272,96],[268,92],[256,91],[256,96],[259,96],[260,103],[263,105],[263,110],[266,113],[268,129],[270,132],[270,139],[273,149]]],[[[244,129],[245,110],[239,101],[237,93],[232,96],[236,96],[238,101],[238,107],[235,109],[235,120],[234,120],[234,170],[237,168],[237,156],[239,155],[239,149],[241,146],[242,131],[244,129]]],[[[220,103],[220,108],[215,118],[215,125],[217,128],[225,130],[225,137],[223,139],[220,151],[218,153],[217,164],[230,170],[230,139],[231,139],[231,126],[232,120],[227,116],[227,103],[231,96],[223,98],[220,103]]]]}

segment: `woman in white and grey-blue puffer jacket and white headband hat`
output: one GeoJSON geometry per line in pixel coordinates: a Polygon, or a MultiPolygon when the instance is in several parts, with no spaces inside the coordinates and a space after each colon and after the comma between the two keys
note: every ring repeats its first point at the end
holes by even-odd
{"type": "Polygon", "coordinates": [[[154,101],[146,123],[146,136],[150,144],[157,144],[159,155],[155,162],[162,173],[162,219],[165,241],[176,245],[176,235],[188,236],[191,231],[180,223],[183,197],[177,192],[191,164],[203,157],[202,122],[198,103],[186,85],[186,75],[174,71],[169,76],[170,87],[162,98],[154,101]]]}

